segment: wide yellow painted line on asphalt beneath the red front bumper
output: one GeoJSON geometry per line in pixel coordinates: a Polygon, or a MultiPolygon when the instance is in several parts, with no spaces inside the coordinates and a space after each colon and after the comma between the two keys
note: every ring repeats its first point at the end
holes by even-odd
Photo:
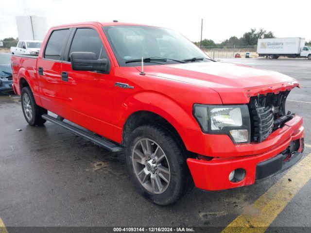
{"type": "Polygon", "coordinates": [[[310,178],[311,154],[287,172],[251,206],[246,207],[222,233],[264,233],[310,178]]]}

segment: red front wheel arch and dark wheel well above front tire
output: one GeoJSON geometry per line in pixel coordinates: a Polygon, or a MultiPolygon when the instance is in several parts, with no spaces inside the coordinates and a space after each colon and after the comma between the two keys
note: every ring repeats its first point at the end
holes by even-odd
{"type": "Polygon", "coordinates": [[[144,124],[160,124],[173,133],[174,137],[187,149],[191,141],[187,130],[200,129],[192,117],[192,109],[188,113],[175,100],[161,93],[138,93],[121,106],[127,107],[121,116],[121,121],[124,122],[121,126],[122,145],[126,145],[129,134],[137,127],[144,124]]]}

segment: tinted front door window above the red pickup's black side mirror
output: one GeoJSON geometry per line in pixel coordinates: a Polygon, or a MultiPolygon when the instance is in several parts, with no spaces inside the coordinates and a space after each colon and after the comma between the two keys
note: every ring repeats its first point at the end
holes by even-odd
{"type": "Polygon", "coordinates": [[[69,50],[68,61],[70,61],[71,52],[94,52],[98,59],[107,58],[106,50],[99,34],[91,28],[77,29],[69,50]]]}

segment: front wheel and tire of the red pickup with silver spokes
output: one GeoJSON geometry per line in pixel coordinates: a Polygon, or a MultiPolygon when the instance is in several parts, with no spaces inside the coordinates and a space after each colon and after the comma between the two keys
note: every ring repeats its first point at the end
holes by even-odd
{"type": "Polygon", "coordinates": [[[162,126],[135,129],[127,143],[126,162],[138,191],[156,204],[172,204],[193,187],[184,149],[162,126]]]}

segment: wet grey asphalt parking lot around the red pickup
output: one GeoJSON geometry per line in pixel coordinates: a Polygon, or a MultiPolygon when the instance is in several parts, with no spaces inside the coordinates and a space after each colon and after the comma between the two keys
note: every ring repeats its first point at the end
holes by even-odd
{"type": "MultiPolygon", "coordinates": [[[[311,61],[224,61],[278,71],[299,81],[301,89],[291,92],[287,110],[303,116],[304,153],[310,154],[311,61]]],[[[162,207],[135,190],[124,153],[107,152],[50,122],[29,126],[19,100],[0,95],[0,226],[8,232],[11,227],[37,226],[193,226],[226,231],[229,224],[244,224],[243,219],[248,226],[263,219],[262,231],[265,226],[271,231],[280,226],[311,229],[310,156],[288,174],[225,191],[193,189],[176,204],[162,207]]]]}

